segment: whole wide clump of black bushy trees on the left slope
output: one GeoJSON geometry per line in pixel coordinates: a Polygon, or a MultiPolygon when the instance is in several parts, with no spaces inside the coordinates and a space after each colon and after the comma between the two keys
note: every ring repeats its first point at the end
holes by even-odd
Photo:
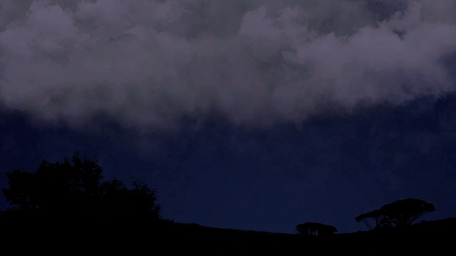
{"type": "Polygon", "coordinates": [[[155,191],[147,183],[133,181],[128,189],[120,180],[103,180],[96,159],[81,156],[50,163],[43,160],[34,172],[6,172],[8,186],[2,189],[7,210],[33,216],[78,218],[160,218],[155,191]]]}

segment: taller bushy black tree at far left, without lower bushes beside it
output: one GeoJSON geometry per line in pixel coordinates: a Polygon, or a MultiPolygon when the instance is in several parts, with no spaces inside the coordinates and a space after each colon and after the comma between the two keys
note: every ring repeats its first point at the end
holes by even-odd
{"type": "Polygon", "coordinates": [[[6,172],[8,188],[2,192],[21,210],[37,213],[86,212],[94,210],[103,178],[98,161],[80,156],[49,163],[41,161],[34,173],[14,169],[6,172]]]}

